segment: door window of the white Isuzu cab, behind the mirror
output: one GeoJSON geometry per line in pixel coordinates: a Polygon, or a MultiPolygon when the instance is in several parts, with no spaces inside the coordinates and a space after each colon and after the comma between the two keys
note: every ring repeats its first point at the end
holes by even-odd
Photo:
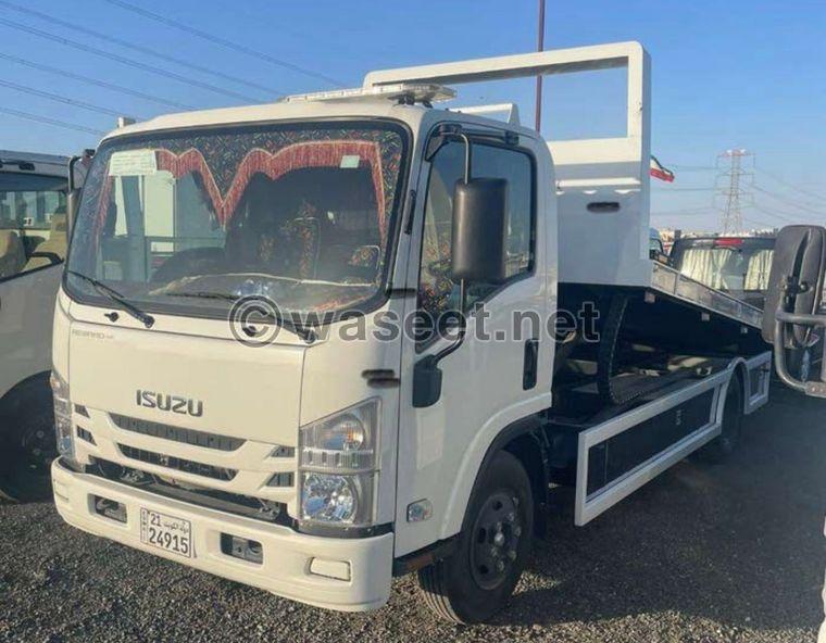
{"type": "MultiPolygon", "coordinates": [[[[450,142],[433,160],[425,201],[420,310],[436,320],[460,304],[459,283],[450,276],[453,232],[453,186],[464,176],[464,144],[450,142]]],[[[508,180],[508,279],[530,272],[534,261],[534,164],[520,150],[474,142],[473,176],[508,180]]],[[[497,286],[468,288],[467,304],[486,298],[497,286]]]]}

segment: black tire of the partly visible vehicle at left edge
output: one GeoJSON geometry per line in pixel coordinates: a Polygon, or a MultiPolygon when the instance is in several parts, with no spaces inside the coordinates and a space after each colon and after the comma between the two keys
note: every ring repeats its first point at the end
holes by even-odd
{"type": "Polygon", "coordinates": [[[48,499],[57,457],[54,408],[49,381],[30,380],[0,411],[0,493],[20,502],[48,499]]]}

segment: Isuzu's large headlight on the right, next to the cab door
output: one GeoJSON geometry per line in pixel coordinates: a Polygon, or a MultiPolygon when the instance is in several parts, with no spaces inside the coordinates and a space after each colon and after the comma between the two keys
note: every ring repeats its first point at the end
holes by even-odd
{"type": "Polygon", "coordinates": [[[372,399],[300,430],[300,520],[373,522],[379,412],[379,400],[372,399]]]}

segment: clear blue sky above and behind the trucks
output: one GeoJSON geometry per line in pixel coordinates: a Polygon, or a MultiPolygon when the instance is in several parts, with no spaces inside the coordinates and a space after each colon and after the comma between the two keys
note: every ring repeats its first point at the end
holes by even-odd
{"type": "MultiPolygon", "coordinates": [[[[646,47],[652,152],[676,175],[652,181],[652,223],[711,231],[729,149],[753,154],[746,228],[826,224],[824,25],[823,0],[547,0],[545,40],[646,47]]],[[[533,51],[537,0],[0,0],[0,148],[73,154],[117,114],[267,102],[356,87],[376,68],[533,51]]],[[[620,71],[548,78],[542,134],[622,135],[624,100],[620,71]]],[[[505,101],[534,123],[531,80],[463,86],[458,102],[505,101]]]]}

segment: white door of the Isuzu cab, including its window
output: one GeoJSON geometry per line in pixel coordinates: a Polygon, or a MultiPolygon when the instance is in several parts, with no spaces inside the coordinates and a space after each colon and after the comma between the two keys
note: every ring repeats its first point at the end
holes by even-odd
{"type": "Polygon", "coordinates": [[[415,364],[456,341],[455,332],[439,323],[459,312],[461,301],[450,270],[452,201],[453,187],[464,176],[466,149],[462,140],[450,140],[423,163],[418,181],[422,197],[410,257],[418,270],[411,269],[408,285],[416,292],[423,331],[415,338],[408,333],[402,356],[397,555],[456,533],[465,495],[492,438],[515,419],[550,405],[553,346],[542,325],[553,305],[549,266],[555,273],[556,253],[555,241],[552,249],[546,242],[549,203],[539,188],[539,177],[551,176],[550,156],[541,143],[524,136],[516,144],[488,137],[472,143],[472,178],[508,181],[506,278],[498,285],[466,286],[465,338],[439,362],[439,399],[414,407],[415,364]],[[484,314],[471,312],[477,305],[484,314]],[[409,521],[409,508],[415,514],[423,507],[425,513],[431,508],[431,517],[409,521]]]}

